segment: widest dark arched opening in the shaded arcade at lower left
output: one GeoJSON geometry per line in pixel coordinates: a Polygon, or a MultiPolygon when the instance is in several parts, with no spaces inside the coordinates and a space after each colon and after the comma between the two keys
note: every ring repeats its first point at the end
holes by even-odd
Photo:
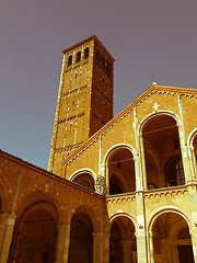
{"type": "Polygon", "coordinates": [[[16,222],[9,262],[54,263],[57,219],[55,207],[47,202],[28,207],[16,222]]]}

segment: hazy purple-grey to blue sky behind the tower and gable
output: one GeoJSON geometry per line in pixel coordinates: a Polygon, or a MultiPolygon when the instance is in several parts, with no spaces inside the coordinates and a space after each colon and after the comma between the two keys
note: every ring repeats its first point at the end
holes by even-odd
{"type": "Polygon", "coordinates": [[[197,89],[197,0],[0,0],[0,149],[47,169],[62,50],[96,35],[114,114],[153,81],[197,89]]]}

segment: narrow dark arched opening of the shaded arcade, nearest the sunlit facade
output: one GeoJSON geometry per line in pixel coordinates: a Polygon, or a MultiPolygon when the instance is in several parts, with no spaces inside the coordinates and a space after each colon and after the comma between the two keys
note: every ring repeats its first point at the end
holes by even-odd
{"type": "Polygon", "coordinates": [[[86,213],[76,213],[71,220],[69,263],[93,263],[93,225],[86,213]]]}

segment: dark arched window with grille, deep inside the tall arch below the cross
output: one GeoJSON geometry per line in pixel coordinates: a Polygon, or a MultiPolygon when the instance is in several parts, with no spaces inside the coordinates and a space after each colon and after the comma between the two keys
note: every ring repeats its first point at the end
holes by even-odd
{"type": "Polygon", "coordinates": [[[167,161],[165,165],[165,180],[167,186],[185,184],[185,175],[181,156],[173,157],[167,161]]]}

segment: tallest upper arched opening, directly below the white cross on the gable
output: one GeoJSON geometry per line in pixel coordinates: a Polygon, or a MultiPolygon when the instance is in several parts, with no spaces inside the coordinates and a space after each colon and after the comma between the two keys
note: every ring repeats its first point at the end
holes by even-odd
{"type": "Polygon", "coordinates": [[[155,187],[185,184],[176,121],[166,114],[151,117],[142,127],[142,138],[147,184],[155,187]]]}

